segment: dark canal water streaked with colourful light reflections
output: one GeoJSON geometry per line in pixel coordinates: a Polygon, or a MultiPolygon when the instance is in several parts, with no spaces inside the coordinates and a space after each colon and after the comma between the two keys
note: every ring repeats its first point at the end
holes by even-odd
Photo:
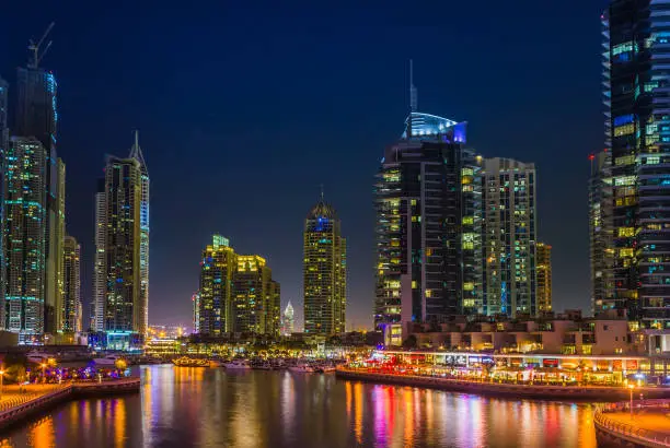
{"type": "Polygon", "coordinates": [[[82,400],[0,447],[594,447],[589,405],[152,366],[139,396],[82,400]]]}

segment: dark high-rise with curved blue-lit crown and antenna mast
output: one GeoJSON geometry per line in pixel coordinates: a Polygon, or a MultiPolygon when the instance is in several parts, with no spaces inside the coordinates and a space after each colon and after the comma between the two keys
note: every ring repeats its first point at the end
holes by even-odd
{"type": "Polygon", "coordinates": [[[391,345],[409,322],[437,325],[483,308],[477,157],[464,148],[465,122],[415,111],[413,103],[374,188],[374,323],[391,345]]]}

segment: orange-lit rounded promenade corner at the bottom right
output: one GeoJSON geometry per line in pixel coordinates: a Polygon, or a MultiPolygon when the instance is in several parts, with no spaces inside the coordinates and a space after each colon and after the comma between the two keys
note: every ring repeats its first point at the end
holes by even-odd
{"type": "Polygon", "coordinates": [[[623,402],[599,409],[593,416],[599,447],[670,447],[670,400],[623,402]]]}

